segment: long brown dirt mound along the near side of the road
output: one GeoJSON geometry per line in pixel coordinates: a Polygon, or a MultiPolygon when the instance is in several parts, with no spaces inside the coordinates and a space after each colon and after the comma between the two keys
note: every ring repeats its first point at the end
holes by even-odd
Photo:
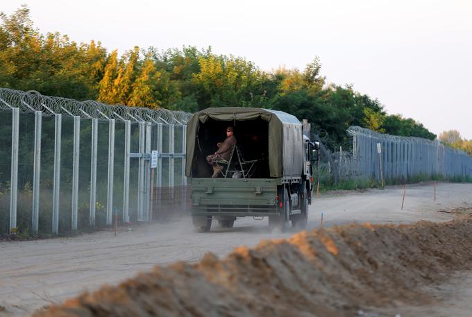
{"type": "Polygon", "coordinates": [[[346,225],[155,267],[38,316],[353,316],[428,302],[419,286],[470,268],[472,216],[449,223],[346,225]]]}

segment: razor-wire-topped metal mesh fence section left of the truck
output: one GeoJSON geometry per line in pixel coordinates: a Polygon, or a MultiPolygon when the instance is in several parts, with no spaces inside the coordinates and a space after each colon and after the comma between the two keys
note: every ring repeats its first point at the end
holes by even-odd
{"type": "Polygon", "coordinates": [[[182,209],[189,117],[0,88],[0,234],[58,234],[182,209]],[[168,196],[166,208],[150,203],[151,191],[168,196]]]}

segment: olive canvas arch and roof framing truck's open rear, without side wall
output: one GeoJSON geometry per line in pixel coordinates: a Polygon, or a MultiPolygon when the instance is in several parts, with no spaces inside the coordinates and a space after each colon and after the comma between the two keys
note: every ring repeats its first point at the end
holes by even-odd
{"type": "Polygon", "coordinates": [[[269,172],[271,177],[283,176],[283,127],[285,123],[291,125],[301,125],[300,121],[292,114],[282,111],[224,107],[208,108],[196,112],[187,122],[187,159],[185,165],[185,175],[192,177],[192,160],[195,151],[196,135],[199,131],[200,123],[205,123],[208,119],[216,121],[247,121],[262,119],[269,122],[269,172]]]}

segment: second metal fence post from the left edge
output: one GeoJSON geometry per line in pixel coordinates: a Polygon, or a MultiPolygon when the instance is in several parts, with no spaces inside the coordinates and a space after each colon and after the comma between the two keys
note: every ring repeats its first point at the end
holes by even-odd
{"type": "Polygon", "coordinates": [[[39,230],[40,219],[40,175],[41,175],[41,128],[42,112],[35,111],[35,154],[33,159],[33,210],[31,225],[33,232],[39,230]]]}

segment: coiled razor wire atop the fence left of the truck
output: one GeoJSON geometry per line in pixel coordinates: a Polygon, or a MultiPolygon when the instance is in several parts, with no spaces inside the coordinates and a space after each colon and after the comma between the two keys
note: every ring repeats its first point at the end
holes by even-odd
{"type": "Polygon", "coordinates": [[[18,108],[22,112],[42,111],[44,115],[64,114],[87,119],[117,119],[133,122],[185,124],[192,114],[184,111],[171,111],[165,108],[150,109],[128,107],[126,105],[107,105],[99,101],[76,101],[70,98],[44,96],[39,92],[0,88],[0,109],[18,108]]]}

